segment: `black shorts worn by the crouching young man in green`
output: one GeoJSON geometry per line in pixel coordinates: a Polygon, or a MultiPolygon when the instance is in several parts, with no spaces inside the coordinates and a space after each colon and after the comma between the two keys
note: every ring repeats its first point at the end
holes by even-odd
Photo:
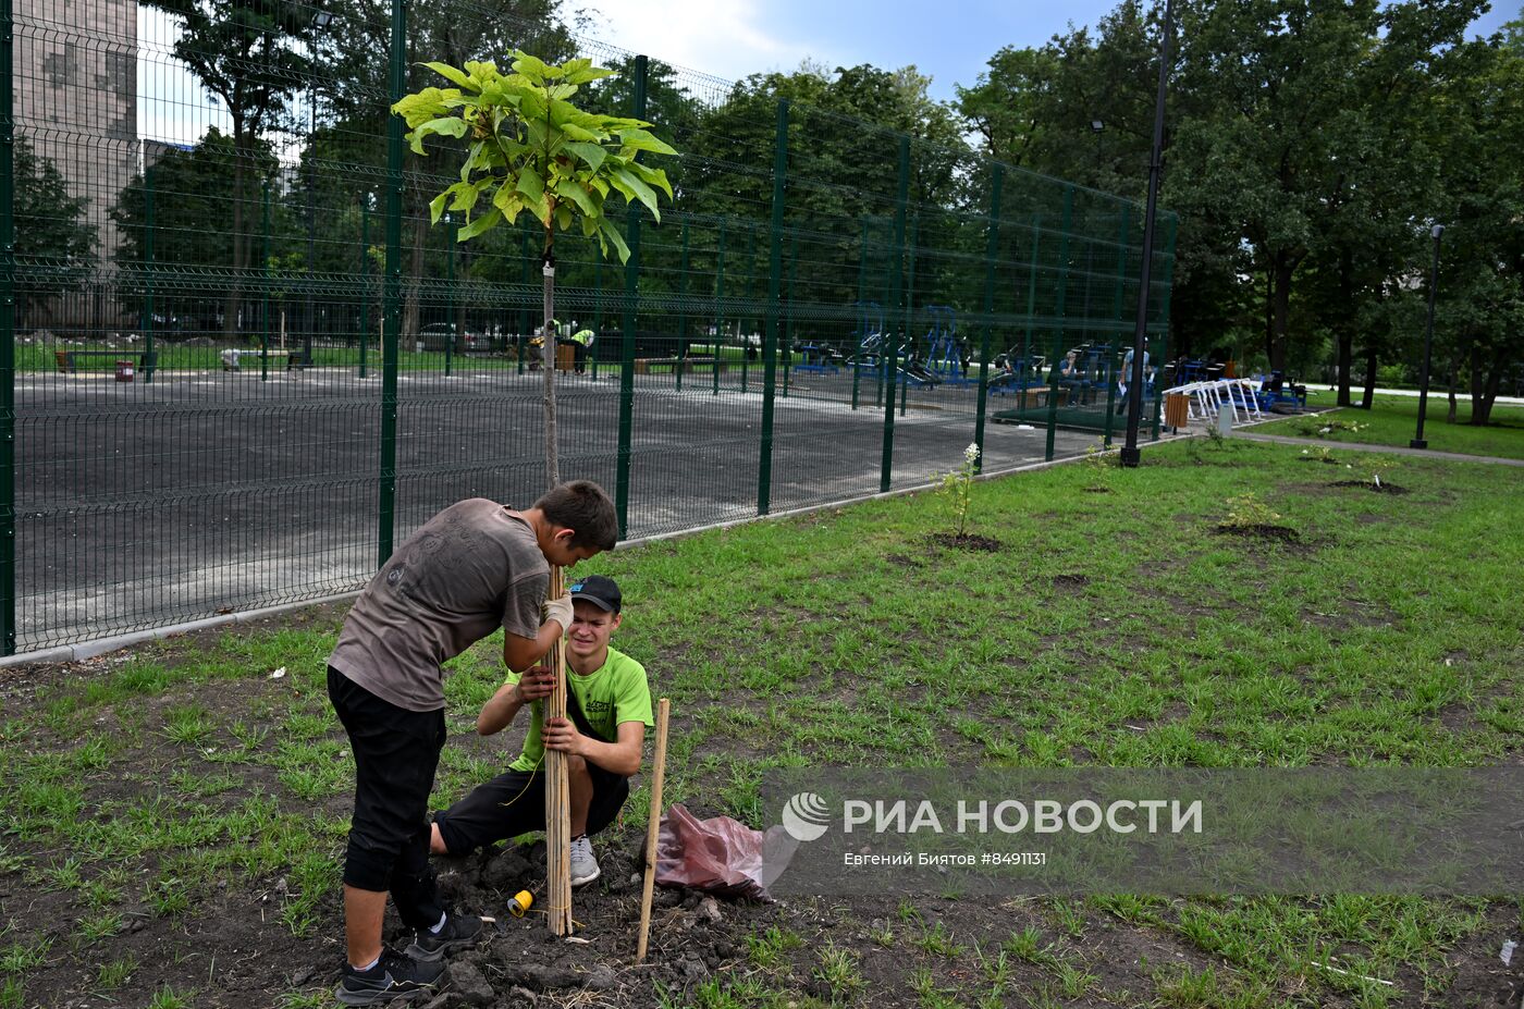
{"type": "MultiPolygon", "coordinates": [[[[587,832],[597,834],[614,822],[629,799],[629,779],[605,771],[591,761],[593,800],[587,809],[587,832]]],[[[546,774],[507,771],[472,788],[465,799],[434,814],[439,837],[451,855],[485,847],[520,834],[546,829],[546,774]]]]}

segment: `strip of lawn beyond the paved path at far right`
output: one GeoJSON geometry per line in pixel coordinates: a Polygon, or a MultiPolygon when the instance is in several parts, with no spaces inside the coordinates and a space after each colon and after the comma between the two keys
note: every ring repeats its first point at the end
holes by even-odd
{"type": "MultiPolygon", "coordinates": [[[[1356,393],[1358,398],[1358,393],[1356,393]]],[[[1309,392],[1309,407],[1332,408],[1335,395],[1330,392],[1309,392]]],[[[1487,427],[1471,427],[1471,398],[1463,396],[1455,402],[1455,424],[1446,424],[1449,399],[1442,393],[1431,395],[1428,413],[1423,419],[1423,439],[1434,451],[1462,453],[1465,456],[1498,456],[1501,459],[1524,459],[1524,407],[1512,404],[1494,404],[1492,424],[1487,427]]],[[[1289,434],[1297,437],[1323,437],[1330,442],[1362,442],[1367,445],[1399,445],[1407,447],[1413,440],[1419,419],[1417,396],[1381,396],[1378,395],[1370,410],[1344,407],[1332,415],[1288,418],[1254,428],[1263,434],[1289,434]],[[1359,424],[1358,431],[1334,430],[1327,434],[1318,431],[1327,425],[1329,419],[1359,424]]]]}

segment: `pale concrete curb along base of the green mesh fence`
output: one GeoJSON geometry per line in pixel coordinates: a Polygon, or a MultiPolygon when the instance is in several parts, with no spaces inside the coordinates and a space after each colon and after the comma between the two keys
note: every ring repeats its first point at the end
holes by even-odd
{"type": "MultiPolygon", "coordinates": [[[[1152,445],[1164,445],[1167,442],[1180,440],[1189,437],[1189,434],[1173,434],[1160,436],[1157,442],[1140,442],[1138,448],[1149,448],[1152,445]]],[[[1009,477],[1017,472],[1035,472],[1038,469],[1049,469],[1052,466],[1062,466],[1064,463],[1079,462],[1084,456],[1065,456],[1064,459],[1029,462],[1020,466],[1006,466],[1004,469],[995,469],[991,472],[981,472],[977,480],[994,480],[997,477],[1009,477]]],[[[768,515],[750,515],[747,518],[730,518],[727,521],[710,523],[707,526],[696,526],[693,529],[678,529],[674,532],[661,532],[654,537],[640,537],[639,540],[622,540],[614,549],[628,550],[631,547],[645,546],[648,543],[664,543],[669,540],[680,540],[683,537],[693,537],[701,532],[710,532],[713,529],[732,529],[735,526],[745,526],[759,521],[773,521],[780,518],[791,518],[796,515],[808,515],[811,512],[820,512],[829,508],[846,508],[849,504],[861,504],[864,501],[882,501],[893,497],[904,497],[905,494],[917,494],[920,491],[931,491],[936,483],[917,483],[908,488],[896,488],[893,491],[882,491],[879,494],[860,494],[856,497],[844,497],[835,501],[824,501],[821,504],[809,504],[806,508],[792,508],[785,512],[771,512],[768,515]]],[[[18,652],[15,655],[6,655],[0,658],[0,669],[8,666],[23,666],[30,663],[64,663],[64,661],[81,661],[84,658],[94,658],[96,655],[104,655],[105,652],[117,651],[119,648],[130,648],[133,645],[143,645],[145,642],[162,640],[166,637],[175,637],[178,634],[190,634],[194,631],[206,631],[209,628],[224,626],[227,623],[251,623],[268,616],[279,613],[290,613],[293,610],[303,610],[306,607],[319,607],[326,602],[340,602],[344,599],[354,599],[360,594],[360,590],[338,593],[334,596],[322,596],[319,599],[303,599],[302,602],[287,602],[279,607],[264,607],[261,610],[244,610],[239,613],[223,613],[215,617],[206,617],[201,620],[187,620],[184,623],[172,623],[169,626],[158,626],[148,631],[133,631],[131,634],[117,634],[113,637],[99,637],[88,642],[79,642],[76,645],[55,645],[53,648],[43,648],[34,652],[18,652]]]]}

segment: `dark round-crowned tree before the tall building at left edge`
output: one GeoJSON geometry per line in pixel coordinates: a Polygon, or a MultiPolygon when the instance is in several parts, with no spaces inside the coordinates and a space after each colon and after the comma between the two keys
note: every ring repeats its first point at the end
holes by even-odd
{"type": "Polygon", "coordinates": [[[21,326],[46,322],[53,300],[79,290],[96,264],[90,201],[69,192],[52,160],[18,136],[12,154],[15,186],[15,312],[21,326]]]}

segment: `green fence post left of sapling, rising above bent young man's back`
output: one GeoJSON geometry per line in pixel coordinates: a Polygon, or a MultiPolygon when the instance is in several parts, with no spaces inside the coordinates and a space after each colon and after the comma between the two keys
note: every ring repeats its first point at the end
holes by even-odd
{"type": "MultiPolygon", "coordinates": [[[[407,82],[407,5],[392,0],[390,108],[407,82]]],[[[402,331],[402,117],[387,116],[386,277],[381,293],[381,468],[376,503],[376,567],[392,556],[396,535],[396,344],[402,331]]]]}

